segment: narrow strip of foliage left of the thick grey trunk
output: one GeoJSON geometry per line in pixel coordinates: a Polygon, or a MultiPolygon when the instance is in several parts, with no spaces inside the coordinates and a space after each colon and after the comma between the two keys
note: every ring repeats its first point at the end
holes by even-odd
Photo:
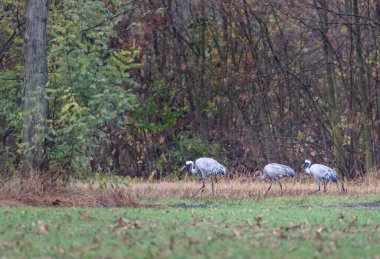
{"type": "MultiPolygon", "coordinates": [[[[18,37],[22,14],[17,12],[23,1],[0,1],[0,173],[16,173],[15,160],[19,155],[22,136],[23,39],[18,37]],[[11,145],[7,142],[12,143],[11,145]]],[[[5,177],[6,178],[6,177],[5,177]]],[[[4,179],[4,177],[2,177],[4,179]]]]}

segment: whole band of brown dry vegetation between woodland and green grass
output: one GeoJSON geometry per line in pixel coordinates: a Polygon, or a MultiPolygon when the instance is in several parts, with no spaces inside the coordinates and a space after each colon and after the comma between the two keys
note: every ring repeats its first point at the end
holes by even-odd
{"type": "MultiPolygon", "coordinates": [[[[365,195],[380,194],[380,171],[373,171],[365,177],[354,181],[345,181],[345,192],[341,182],[338,187],[328,184],[324,193],[323,186],[318,195],[365,195]]],[[[223,199],[261,199],[279,196],[308,196],[314,194],[317,185],[313,178],[298,175],[296,178],[282,180],[283,192],[277,183],[267,192],[269,181],[254,177],[234,179],[220,178],[216,184],[216,197],[223,199]]],[[[193,198],[201,182],[185,181],[133,181],[130,186],[120,188],[99,188],[96,185],[77,184],[69,187],[53,187],[44,179],[32,177],[24,183],[19,180],[9,181],[0,188],[0,205],[12,206],[59,206],[59,207],[136,207],[141,206],[138,200],[158,200],[167,198],[193,198]],[[41,184],[45,182],[45,184],[41,184]]],[[[210,179],[206,180],[206,191],[194,198],[209,198],[211,194],[210,179]]]]}

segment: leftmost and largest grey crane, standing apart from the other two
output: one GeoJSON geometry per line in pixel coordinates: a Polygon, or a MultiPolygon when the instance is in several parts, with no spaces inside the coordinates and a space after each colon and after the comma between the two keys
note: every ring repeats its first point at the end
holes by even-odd
{"type": "Polygon", "coordinates": [[[199,192],[205,191],[205,181],[206,176],[208,175],[211,175],[212,195],[215,196],[214,177],[216,175],[224,175],[225,177],[227,176],[226,168],[215,159],[208,157],[198,158],[195,161],[195,164],[193,163],[193,161],[186,161],[186,164],[184,167],[182,167],[181,171],[185,168],[187,168],[189,172],[191,172],[192,174],[196,174],[198,172],[201,174],[202,187],[197,192],[195,192],[193,196],[197,195],[199,192]]]}

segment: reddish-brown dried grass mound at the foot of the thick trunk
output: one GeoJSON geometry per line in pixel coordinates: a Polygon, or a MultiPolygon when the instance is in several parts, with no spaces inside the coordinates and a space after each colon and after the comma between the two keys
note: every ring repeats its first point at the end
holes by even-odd
{"type": "Polygon", "coordinates": [[[32,174],[27,179],[8,181],[0,188],[0,205],[38,207],[137,207],[127,188],[100,189],[62,187],[48,177],[32,174]]]}

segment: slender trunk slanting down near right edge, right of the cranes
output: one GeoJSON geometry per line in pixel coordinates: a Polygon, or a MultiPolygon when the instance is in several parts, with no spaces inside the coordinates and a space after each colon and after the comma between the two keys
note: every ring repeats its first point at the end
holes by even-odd
{"type": "Polygon", "coordinates": [[[368,96],[367,84],[365,82],[365,73],[364,73],[364,60],[362,54],[362,41],[360,33],[360,17],[359,17],[359,8],[358,0],[353,0],[353,11],[355,16],[355,49],[356,49],[356,59],[359,67],[359,85],[360,85],[360,98],[362,102],[362,107],[364,111],[364,152],[365,152],[365,167],[366,171],[370,170],[373,166],[373,157],[372,157],[372,140],[371,140],[371,106],[368,96]]]}

